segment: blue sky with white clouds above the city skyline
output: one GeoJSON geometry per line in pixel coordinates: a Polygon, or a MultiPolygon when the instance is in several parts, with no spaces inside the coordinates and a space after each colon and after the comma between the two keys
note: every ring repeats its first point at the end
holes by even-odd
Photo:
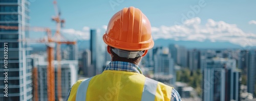
{"type": "MultiPolygon", "coordinates": [[[[31,26],[55,28],[51,21],[55,15],[53,1],[30,2],[31,26]]],[[[124,7],[134,6],[151,21],[154,39],[210,40],[256,46],[256,1],[253,0],[77,0],[57,1],[57,4],[61,17],[66,20],[62,33],[68,37],[77,35],[88,40],[90,28],[99,29],[103,34],[112,15],[124,7]],[[247,42],[241,43],[244,41],[247,42]]]]}

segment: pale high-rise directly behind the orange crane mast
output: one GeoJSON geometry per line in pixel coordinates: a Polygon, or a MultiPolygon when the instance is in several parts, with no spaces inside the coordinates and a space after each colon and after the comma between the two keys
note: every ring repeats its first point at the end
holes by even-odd
{"type": "MultiPolygon", "coordinates": [[[[58,96],[58,84],[57,84],[57,61],[54,60],[54,72],[55,72],[55,98],[58,96]]],[[[61,60],[61,95],[62,99],[66,100],[70,88],[77,81],[78,61],[77,60],[61,60]]],[[[34,55],[33,64],[37,67],[37,86],[38,99],[48,100],[47,93],[47,65],[44,56],[34,55]]]]}

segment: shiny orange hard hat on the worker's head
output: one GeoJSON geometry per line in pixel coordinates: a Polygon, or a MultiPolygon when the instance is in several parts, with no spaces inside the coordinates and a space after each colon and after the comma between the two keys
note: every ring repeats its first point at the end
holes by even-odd
{"type": "Polygon", "coordinates": [[[148,50],[154,46],[150,21],[134,7],[124,8],[110,19],[103,41],[123,50],[148,50]]]}

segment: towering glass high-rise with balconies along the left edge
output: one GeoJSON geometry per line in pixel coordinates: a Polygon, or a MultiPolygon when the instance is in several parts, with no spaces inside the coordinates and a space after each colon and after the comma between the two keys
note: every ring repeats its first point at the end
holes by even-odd
{"type": "Polygon", "coordinates": [[[1,74],[8,72],[8,83],[4,82],[4,76],[0,77],[0,100],[32,100],[30,51],[26,42],[18,41],[29,37],[29,32],[24,30],[29,27],[29,5],[27,0],[0,1],[0,25],[18,27],[18,29],[0,28],[0,51],[4,52],[4,47],[8,48],[7,69],[4,69],[4,53],[0,54],[1,74]],[[5,44],[7,46],[4,43],[7,43],[5,44]],[[6,84],[8,84],[8,97],[4,96],[6,89],[3,88],[6,84]]]}

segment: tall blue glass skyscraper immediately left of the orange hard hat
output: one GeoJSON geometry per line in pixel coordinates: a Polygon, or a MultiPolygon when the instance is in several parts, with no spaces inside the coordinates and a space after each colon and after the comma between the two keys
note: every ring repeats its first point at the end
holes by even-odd
{"type": "Polygon", "coordinates": [[[97,32],[96,29],[91,29],[91,62],[95,69],[95,74],[100,74],[103,71],[104,65],[104,48],[103,48],[102,36],[97,32]]]}

